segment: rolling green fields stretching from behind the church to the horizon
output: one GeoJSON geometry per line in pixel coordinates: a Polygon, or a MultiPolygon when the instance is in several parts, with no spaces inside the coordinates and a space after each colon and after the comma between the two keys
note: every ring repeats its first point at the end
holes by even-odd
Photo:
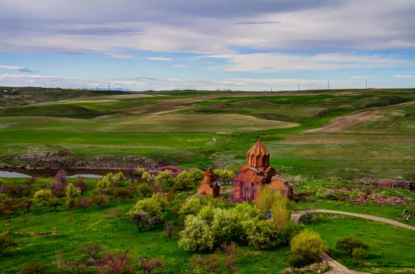
{"type": "Polygon", "coordinates": [[[70,152],[75,166],[100,157],[109,159],[106,166],[116,165],[129,155],[156,164],[237,170],[260,137],[271,164],[285,175],[415,177],[415,90],[22,91],[43,101],[20,99],[28,105],[0,108],[3,164],[42,167],[33,153],[50,149],[70,152]],[[356,122],[360,118],[353,115],[360,112],[364,119],[356,122]],[[350,116],[335,133],[319,130],[350,116]]]}

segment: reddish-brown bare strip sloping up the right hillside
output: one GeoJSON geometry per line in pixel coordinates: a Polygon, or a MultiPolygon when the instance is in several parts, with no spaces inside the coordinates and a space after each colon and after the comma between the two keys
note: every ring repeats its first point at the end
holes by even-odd
{"type": "Polygon", "coordinates": [[[411,106],[415,104],[415,101],[398,104],[396,106],[384,106],[379,108],[371,108],[370,110],[362,110],[358,113],[347,115],[344,117],[340,117],[338,119],[334,119],[329,124],[322,126],[321,128],[313,128],[311,130],[306,130],[304,133],[317,133],[320,131],[324,131],[326,133],[337,133],[340,130],[345,128],[350,128],[351,126],[356,126],[360,124],[362,121],[369,119],[370,117],[377,115],[381,110],[390,110],[396,108],[405,108],[406,106],[411,106]]]}

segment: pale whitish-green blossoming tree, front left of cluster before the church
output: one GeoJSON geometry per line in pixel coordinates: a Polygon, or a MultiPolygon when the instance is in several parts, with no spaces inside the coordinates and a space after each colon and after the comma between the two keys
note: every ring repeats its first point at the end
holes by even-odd
{"type": "Polygon", "coordinates": [[[178,246],[185,251],[201,252],[213,248],[213,233],[208,223],[200,217],[188,215],[185,219],[185,229],[179,235],[178,246]]]}

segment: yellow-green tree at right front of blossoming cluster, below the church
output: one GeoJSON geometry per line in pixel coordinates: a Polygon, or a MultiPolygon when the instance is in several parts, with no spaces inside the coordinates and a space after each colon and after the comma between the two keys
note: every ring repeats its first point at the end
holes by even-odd
{"type": "Polygon", "coordinates": [[[243,222],[250,245],[257,246],[259,250],[271,242],[278,235],[275,224],[271,220],[248,220],[243,222]]]}

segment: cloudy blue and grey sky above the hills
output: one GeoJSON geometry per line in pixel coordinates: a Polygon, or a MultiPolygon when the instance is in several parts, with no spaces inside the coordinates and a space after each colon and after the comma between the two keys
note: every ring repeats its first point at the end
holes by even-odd
{"type": "Polygon", "coordinates": [[[0,10],[0,86],[415,86],[414,0],[0,0],[0,10]]]}

